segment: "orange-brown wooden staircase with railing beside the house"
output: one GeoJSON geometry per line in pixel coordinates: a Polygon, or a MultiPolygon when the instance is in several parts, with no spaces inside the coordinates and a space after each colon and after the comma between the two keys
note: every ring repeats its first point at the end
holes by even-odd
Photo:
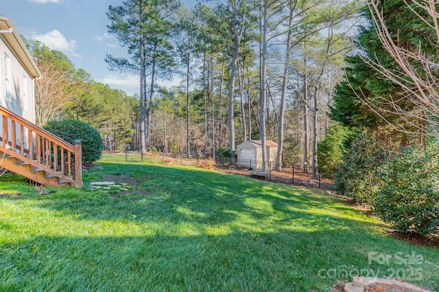
{"type": "Polygon", "coordinates": [[[82,187],[82,147],[0,107],[0,167],[49,187],[82,187]]]}

